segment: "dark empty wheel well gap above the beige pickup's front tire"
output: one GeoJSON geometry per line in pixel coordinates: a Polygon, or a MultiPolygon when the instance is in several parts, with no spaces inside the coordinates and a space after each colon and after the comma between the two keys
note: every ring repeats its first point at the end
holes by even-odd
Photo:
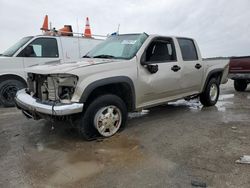
{"type": "Polygon", "coordinates": [[[133,90],[127,83],[112,83],[95,88],[88,95],[84,106],[88,106],[94,99],[105,94],[117,95],[124,101],[128,108],[128,111],[134,110],[133,90]]]}

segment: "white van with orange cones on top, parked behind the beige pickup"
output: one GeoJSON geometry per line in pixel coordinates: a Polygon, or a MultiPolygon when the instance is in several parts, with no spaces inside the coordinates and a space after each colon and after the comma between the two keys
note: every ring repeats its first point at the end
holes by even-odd
{"type": "Polygon", "coordinates": [[[52,61],[68,63],[82,58],[101,39],[38,35],[24,37],[0,55],[0,103],[14,106],[17,90],[26,87],[24,69],[52,61]]]}

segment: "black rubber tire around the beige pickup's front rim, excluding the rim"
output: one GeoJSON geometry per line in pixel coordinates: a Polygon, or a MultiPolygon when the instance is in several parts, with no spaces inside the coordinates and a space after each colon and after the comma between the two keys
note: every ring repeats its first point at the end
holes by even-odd
{"type": "Polygon", "coordinates": [[[114,106],[120,110],[119,117],[121,118],[119,121],[119,129],[116,132],[124,129],[126,122],[127,122],[127,116],[128,116],[127,107],[125,103],[120,97],[116,95],[105,94],[93,100],[87,106],[86,110],[83,112],[83,116],[81,118],[80,125],[79,125],[79,130],[80,130],[81,136],[84,139],[93,140],[93,139],[100,138],[100,137],[110,137],[116,133],[115,132],[113,135],[110,135],[110,136],[104,136],[104,135],[101,135],[100,132],[96,128],[95,117],[97,116],[98,112],[101,109],[104,109],[108,106],[114,106]]]}

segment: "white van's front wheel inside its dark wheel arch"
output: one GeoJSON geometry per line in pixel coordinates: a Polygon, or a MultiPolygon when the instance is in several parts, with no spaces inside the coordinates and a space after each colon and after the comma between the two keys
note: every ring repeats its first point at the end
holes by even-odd
{"type": "Polygon", "coordinates": [[[22,88],[25,88],[25,84],[19,80],[4,80],[0,83],[0,103],[4,107],[15,106],[14,98],[16,92],[22,88]]]}

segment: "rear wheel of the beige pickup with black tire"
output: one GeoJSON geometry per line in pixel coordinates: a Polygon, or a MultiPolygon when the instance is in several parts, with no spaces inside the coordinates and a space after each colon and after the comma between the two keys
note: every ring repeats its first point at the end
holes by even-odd
{"type": "Polygon", "coordinates": [[[206,85],[205,90],[200,95],[200,102],[204,106],[214,106],[220,95],[220,87],[218,84],[218,80],[216,78],[211,78],[206,85]],[[210,94],[211,89],[215,92],[212,96],[210,94]]]}

